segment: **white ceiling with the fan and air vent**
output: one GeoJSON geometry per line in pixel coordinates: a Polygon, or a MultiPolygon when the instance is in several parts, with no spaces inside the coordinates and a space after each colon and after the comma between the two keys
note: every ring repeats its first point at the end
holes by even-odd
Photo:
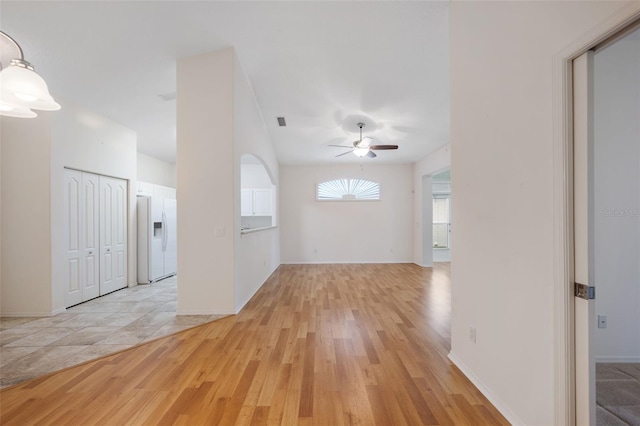
{"type": "Polygon", "coordinates": [[[138,151],[171,163],[176,103],[159,95],[179,58],[229,46],[281,164],[407,163],[449,142],[447,2],[3,0],[0,29],[63,108],[135,130],[138,151]],[[400,148],[336,158],[327,145],[350,145],[358,121],[400,148]]]}

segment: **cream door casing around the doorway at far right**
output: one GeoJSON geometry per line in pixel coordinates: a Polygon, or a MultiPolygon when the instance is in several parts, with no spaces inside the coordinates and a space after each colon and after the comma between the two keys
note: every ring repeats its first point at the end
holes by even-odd
{"type": "Polygon", "coordinates": [[[572,62],[640,19],[633,2],[553,57],[554,418],[575,424],[572,62]]]}

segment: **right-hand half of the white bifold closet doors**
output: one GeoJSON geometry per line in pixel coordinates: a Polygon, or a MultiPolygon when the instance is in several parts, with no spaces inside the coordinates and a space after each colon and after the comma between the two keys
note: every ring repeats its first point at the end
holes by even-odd
{"type": "Polygon", "coordinates": [[[127,286],[127,182],[100,176],[100,295],[127,286]]]}

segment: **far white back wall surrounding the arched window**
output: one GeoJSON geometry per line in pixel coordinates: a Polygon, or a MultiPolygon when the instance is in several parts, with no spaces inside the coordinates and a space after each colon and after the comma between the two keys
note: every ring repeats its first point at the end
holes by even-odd
{"type": "Polygon", "coordinates": [[[282,166],[283,263],[411,262],[410,164],[282,166]],[[360,178],[379,182],[380,201],[316,201],[318,182],[360,178]]]}

